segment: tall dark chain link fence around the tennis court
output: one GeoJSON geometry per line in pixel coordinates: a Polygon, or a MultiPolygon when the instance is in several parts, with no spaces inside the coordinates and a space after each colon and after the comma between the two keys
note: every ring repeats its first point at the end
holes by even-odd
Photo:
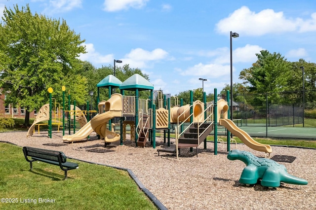
{"type": "Polygon", "coordinates": [[[293,91],[233,95],[234,102],[238,104],[233,111],[233,119],[239,127],[265,127],[266,132],[258,132],[258,135],[252,133],[252,136],[298,138],[299,135],[295,133],[303,133],[303,136],[308,136],[307,139],[316,139],[316,98],[313,98],[315,94],[316,91],[313,90],[304,93],[293,91]],[[279,132],[276,135],[269,132],[272,127],[282,129],[277,129],[279,132]],[[290,128],[292,130],[289,130],[290,128]]]}

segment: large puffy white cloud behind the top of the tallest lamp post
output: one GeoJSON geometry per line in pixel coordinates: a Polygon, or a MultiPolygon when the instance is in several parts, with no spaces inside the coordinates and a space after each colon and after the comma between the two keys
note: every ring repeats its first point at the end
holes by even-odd
{"type": "MultiPolygon", "coordinates": [[[[315,21],[315,18],[313,19],[315,21]]],[[[283,32],[293,32],[302,24],[301,19],[288,19],[283,12],[264,9],[258,13],[250,11],[246,6],[235,10],[229,17],[216,24],[216,31],[229,35],[230,31],[240,35],[259,36],[283,32]]]]}

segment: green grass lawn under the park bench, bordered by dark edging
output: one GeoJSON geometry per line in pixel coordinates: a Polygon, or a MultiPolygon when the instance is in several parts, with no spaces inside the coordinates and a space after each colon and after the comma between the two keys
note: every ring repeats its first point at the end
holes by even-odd
{"type": "Polygon", "coordinates": [[[47,163],[33,163],[31,172],[21,147],[0,143],[0,197],[16,202],[1,202],[0,209],[157,209],[127,172],[69,161],[78,163],[79,169],[69,171],[67,180],[58,166],[47,163]],[[44,199],[51,202],[44,203],[44,199]]]}

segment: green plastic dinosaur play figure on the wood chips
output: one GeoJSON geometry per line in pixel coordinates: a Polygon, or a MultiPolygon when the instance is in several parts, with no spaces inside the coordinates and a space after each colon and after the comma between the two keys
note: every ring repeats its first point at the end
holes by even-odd
{"type": "Polygon", "coordinates": [[[279,187],[280,182],[288,184],[307,184],[307,180],[289,175],[285,166],[276,161],[259,158],[247,151],[231,150],[228,153],[229,160],[241,160],[246,164],[239,182],[246,184],[256,184],[261,179],[261,185],[269,188],[279,187]]]}

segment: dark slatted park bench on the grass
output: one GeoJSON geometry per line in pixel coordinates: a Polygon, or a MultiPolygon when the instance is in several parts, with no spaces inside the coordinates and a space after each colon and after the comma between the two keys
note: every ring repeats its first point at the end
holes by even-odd
{"type": "Polygon", "coordinates": [[[79,168],[77,163],[67,162],[66,155],[60,151],[24,146],[23,153],[25,159],[30,162],[31,171],[33,169],[32,163],[34,161],[41,161],[44,163],[60,166],[61,170],[65,171],[64,179],[67,179],[68,170],[79,168]],[[29,159],[28,157],[30,157],[31,159],[29,159]]]}

